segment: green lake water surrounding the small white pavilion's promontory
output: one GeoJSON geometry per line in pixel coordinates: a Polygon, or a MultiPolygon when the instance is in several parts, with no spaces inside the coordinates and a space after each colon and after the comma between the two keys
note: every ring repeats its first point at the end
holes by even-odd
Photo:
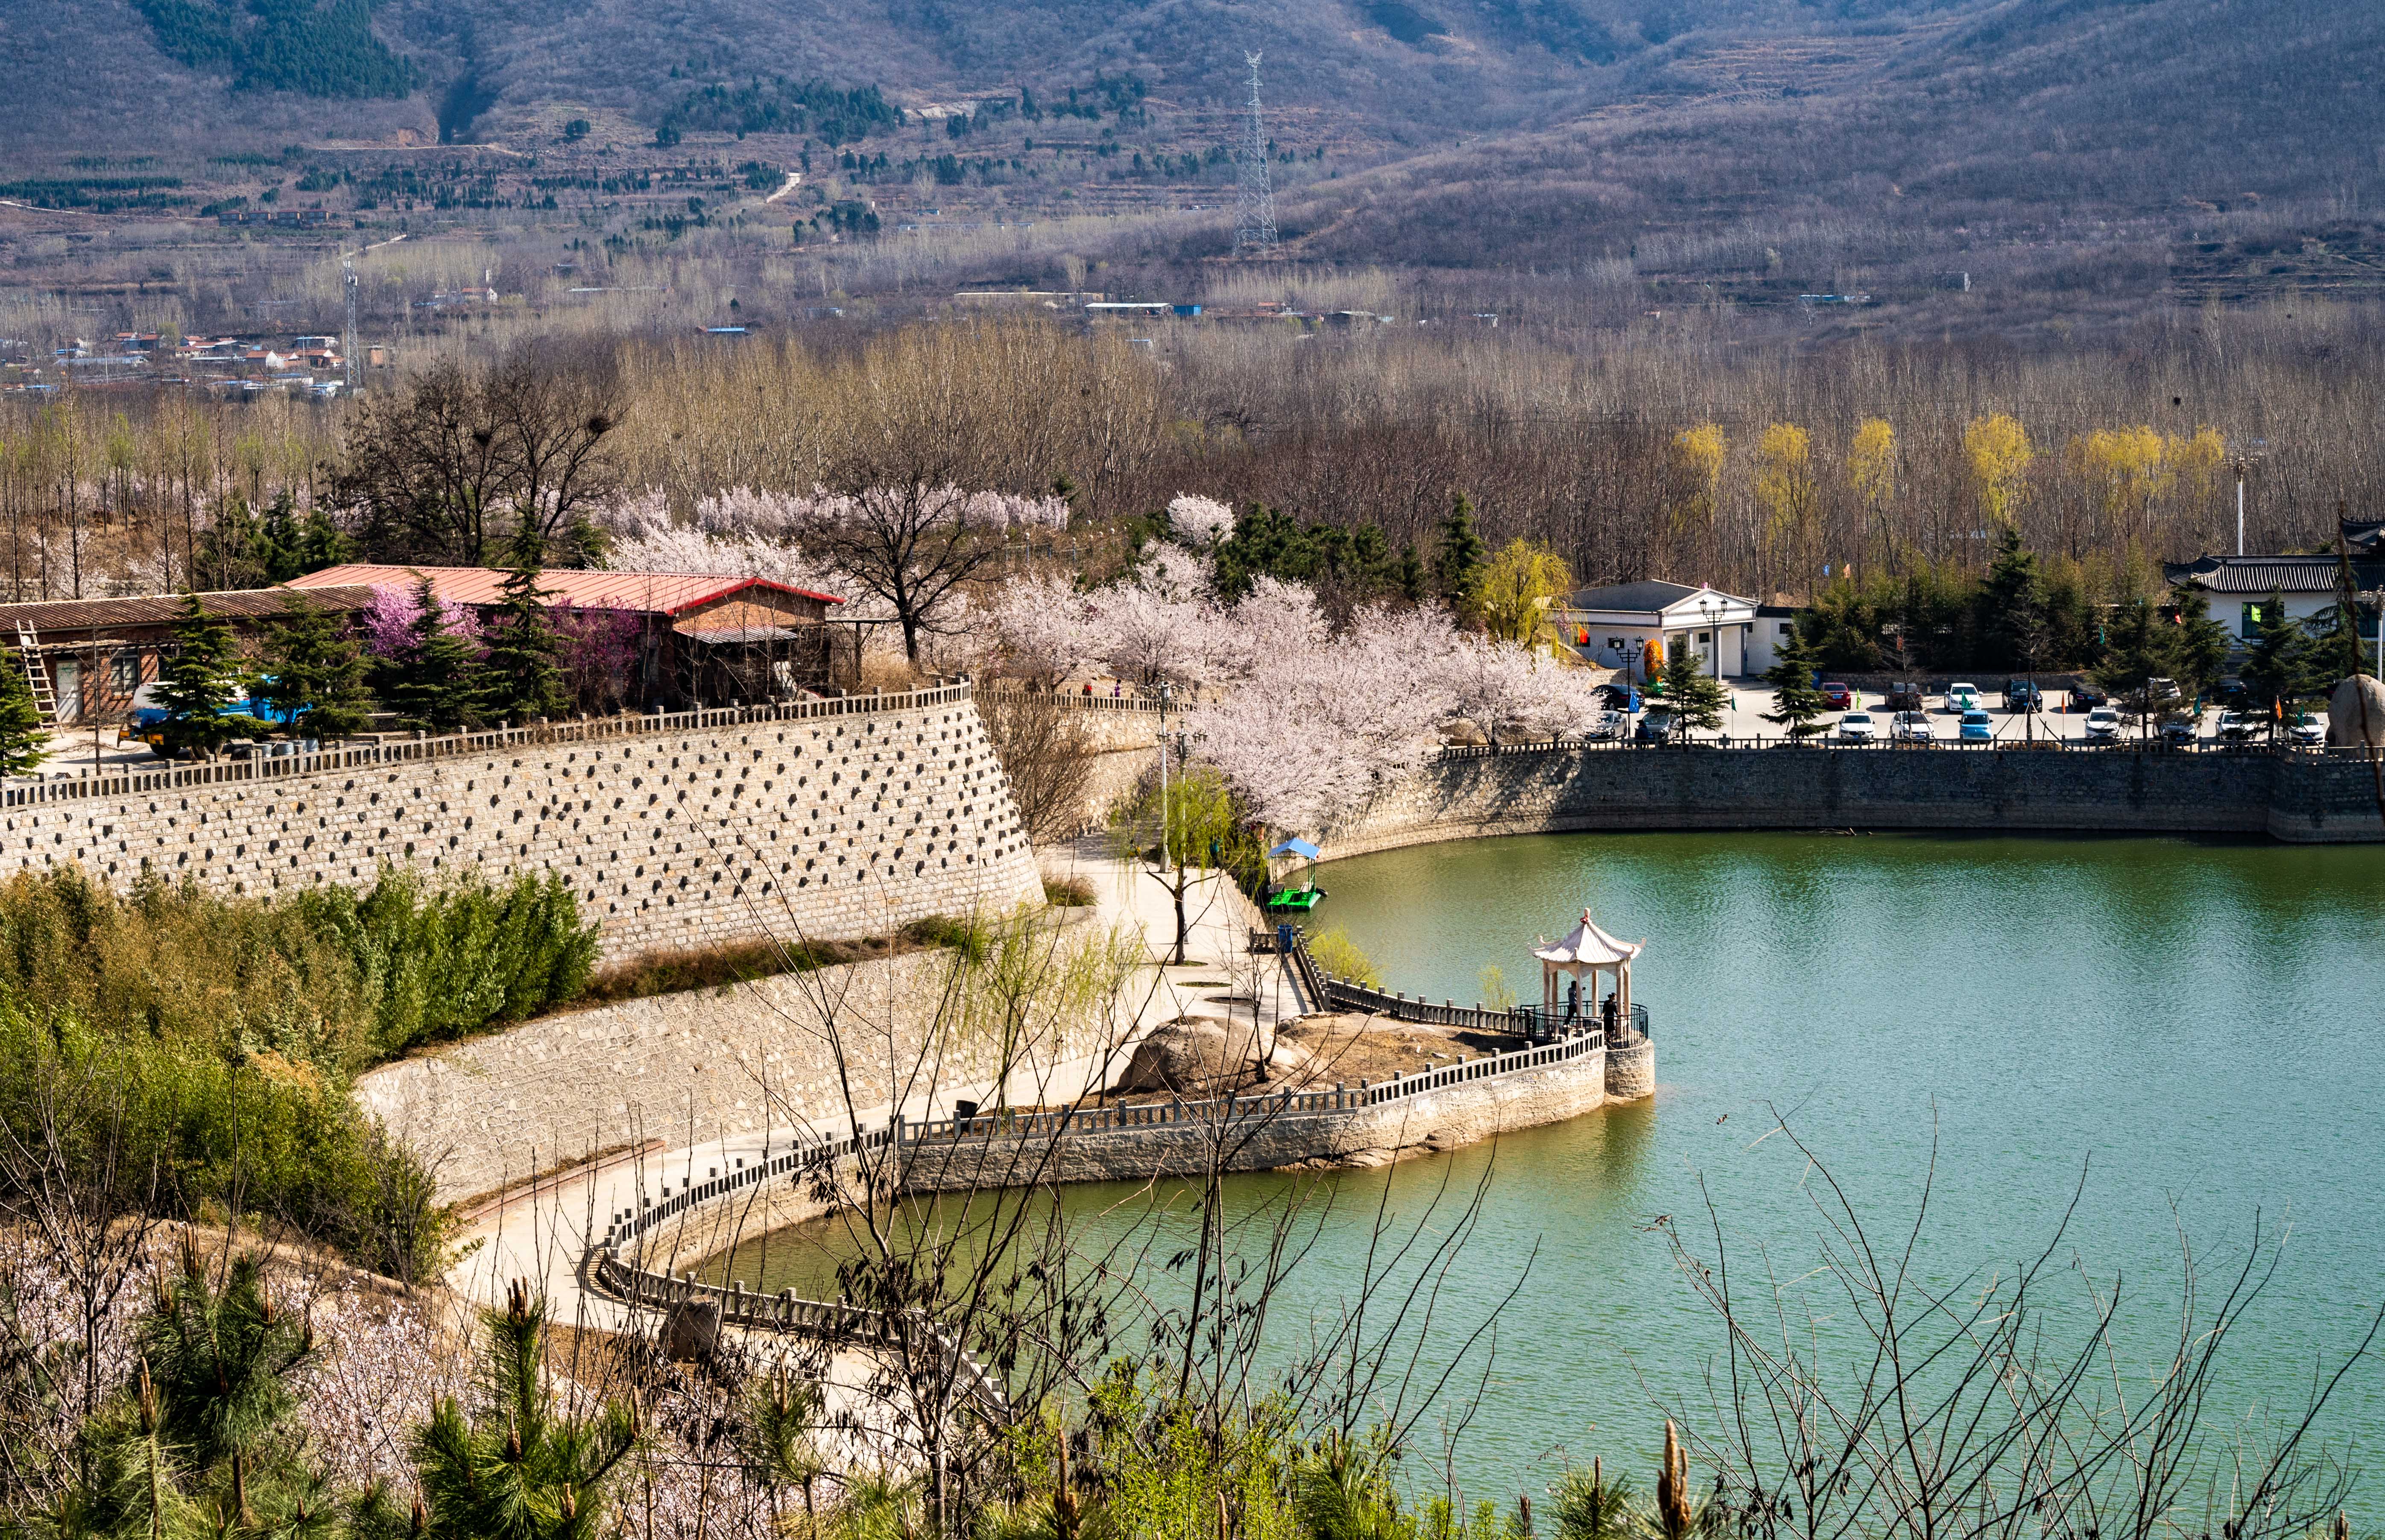
{"type": "MultiPolygon", "coordinates": [[[[1722,1342],[1658,1216],[1703,1225],[1703,1192],[1743,1261],[1767,1244],[1784,1273],[1813,1266],[1813,1173],[1786,1140],[1760,1142],[1774,1109],[1884,1230],[1910,1216],[1937,1144],[1932,1278],[2008,1275],[2084,1170],[2063,1256],[2099,1285],[2123,1278],[2123,1378],[2170,1349],[2180,1225],[2213,1273],[2256,1221],[2287,1228],[2211,1397],[2230,1423],[2299,1404],[2318,1356],[2385,1297],[2385,849],[1565,834],[1338,861],[1319,882],[1312,925],[1348,927],[1388,987],[1431,999],[1479,999],[1486,963],[1534,996],[1534,939],[1584,906],[1648,942],[1634,999],[1658,1044],[1653,1101],[1336,1178],[1278,1309],[1305,1335],[1348,1294],[1386,1182],[1421,1216],[1488,1166],[1426,1345],[1450,1352],[1529,1259],[1455,1459],[1476,1495],[1536,1490],[1567,1452],[1648,1478],[1650,1397],[1698,1399],[1722,1342]]],[[[1235,1201],[1286,1187],[1238,1178],[1235,1201]]],[[[1150,1209],[1126,1197],[1064,1201],[1099,1230],[1150,1209]]],[[[818,1254],[787,1240],[761,1283],[816,1285],[818,1254]]],[[[2359,1368],[2325,1426],[2366,1461],[2385,1442],[2385,1368],[2359,1368]]],[[[2385,1480],[2364,1480],[2359,1507],[2385,1519],[2385,1480]]]]}

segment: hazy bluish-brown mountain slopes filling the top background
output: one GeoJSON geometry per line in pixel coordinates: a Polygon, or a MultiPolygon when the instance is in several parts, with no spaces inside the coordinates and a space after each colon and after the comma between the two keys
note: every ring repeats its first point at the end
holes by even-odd
{"type": "Polygon", "coordinates": [[[2347,0],[0,0],[0,179],[184,176],[191,210],[262,193],[198,191],[210,157],[434,138],[799,167],[823,234],[1219,210],[1264,50],[1302,260],[1555,272],[1619,315],[2385,293],[2385,7],[2347,0]]]}

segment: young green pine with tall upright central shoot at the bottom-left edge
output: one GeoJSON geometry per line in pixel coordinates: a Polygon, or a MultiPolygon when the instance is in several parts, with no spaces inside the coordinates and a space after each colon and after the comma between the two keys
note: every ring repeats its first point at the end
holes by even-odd
{"type": "Polygon", "coordinates": [[[482,1316],[487,1349],[470,1414],[441,1402],[415,1433],[415,1476],[429,1540],[594,1540],[611,1533],[608,1497],[639,1445],[634,1407],[594,1416],[556,1409],[544,1373],[546,1302],[522,1283],[482,1316]]]}

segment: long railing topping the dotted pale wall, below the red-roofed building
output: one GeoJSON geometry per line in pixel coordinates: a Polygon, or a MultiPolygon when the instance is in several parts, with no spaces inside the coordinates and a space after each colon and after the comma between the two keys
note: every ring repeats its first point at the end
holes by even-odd
{"type": "Polygon", "coordinates": [[[472,758],[482,753],[508,753],[515,749],[546,749],[553,744],[608,744],[618,739],[651,739],[680,732],[715,732],[723,727],[880,715],[892,710],[956,706],[968,698],[971,687],[964,679],[959,684],[935,684],[899,694],[825,696],[818,701],[778,701],[770,706],[708,706],[704,710],[591,718],[580,722],[537,722],[529,727],[494,727],[489,732],[451,732],[441,737],[391,739],[379,744],[343,744],[320,749],[315,753],[260,753],[238,760],[207,760],[200,765],[172,765],[162,770],[117,770],[107,775],[14,780],[0,787],[0,808],[29,808],[105,796],[148,796],[186,787],[222,787],[234,782],[303,780],[315,775],[341,775],[348,770],[374,770],[382,765],[472,758]]]}

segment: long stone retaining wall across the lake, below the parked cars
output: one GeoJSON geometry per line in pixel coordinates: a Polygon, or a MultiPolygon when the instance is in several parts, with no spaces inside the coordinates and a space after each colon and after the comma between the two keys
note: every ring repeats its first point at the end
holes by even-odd
{"type": "Polygon", "coordinates": [[[2077,830],[2380,839],[2347,753],[1507,749],[1441,756],[1324,830],[1336,856],[1565,830],[2077,830]]]}

